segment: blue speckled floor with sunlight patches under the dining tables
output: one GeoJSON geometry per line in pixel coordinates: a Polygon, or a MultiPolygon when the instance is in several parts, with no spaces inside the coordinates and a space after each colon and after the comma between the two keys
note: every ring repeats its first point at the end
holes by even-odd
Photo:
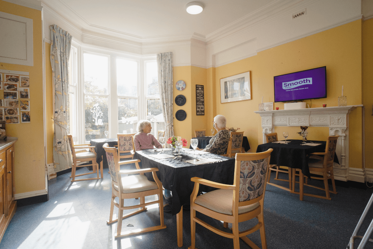
{"type": "MultiPolygon", "coordinates": [[[[80,172],[87,171],[83,168],[80,172]]],[[[272,178],[275,173],[272,173],[272,178]]],[[[280,174],[281,177],[283,177],[280,174]]],[[[276,181],[286,186],[286,182],[276,181]]],[[[322,182],[312,180],[313,184],[322,182]]],[[[306,188],[305,191],[314,192],[306,188]]],[[[291,194],[285,190],[267,185],[264,200],[264,219],[267,246],[269,249],[326,248],[344,249],[350,239],[361,213],[373,190],[344,188],[337,186],[337,195],[331,194],[332,201],[291,194]]],[[[82,248],[178,248],[176,241],[176,216],[164,213],[167,228],[133,236],[114,239],[116,223],[107,225],[110,212],[111,185],[107,169],[103,180],[90,180],[71,183],[69,174],[49,181],[47,202],[19,207],[0,243],[0,249],[82,249],[82,248]]],[[[151,196],[147,201],[155,197],[151,196]]],[[[128,200],[131,203],[138,200],[128,200]]],[[[117,213],[117,208],[114,208],[117,213]]],[[[223,228],[220,221],[199,215],[202,220],[223,228]]],[[[362,228],[365,232],[373,218],[373,210],[362,228]]],[[[184,246],[190,245],[190,215],[184,211],[184,246]]],[[[256,220],[240,223],[240,230],[246,230],[256,220]]],[[[123,230],[154,226],[159,224],[157,207],[137,214],[123,221],[123,230]],[[134,227],[127,227],[127,224],[134,227]]],[[[196,247],[233,248],[233,241],[218,236],[197,224],[196,247]]],[[[229,231],[225,229],[225,231],[229,231]]],[[[254,243],[260,244],[260,235],[256,231],[248,236],[254,243]]],[[[359,241],[360,242],[360,241],[359,241]]],[[[240,241],[241,248],[250,248],[240,241]]],[[[355,246],[357,248],[357,246],[355,246]]],[[[368,244],[367,248],[373,248],[368,244]]]]}

